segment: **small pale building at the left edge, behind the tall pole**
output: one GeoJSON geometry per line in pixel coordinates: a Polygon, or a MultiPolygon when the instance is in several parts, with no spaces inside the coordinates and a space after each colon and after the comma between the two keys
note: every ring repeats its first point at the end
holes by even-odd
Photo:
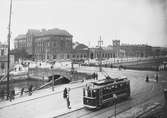
{"type": "MultiPolygon", "coordinates": [[[[0,75],[7,72],[8,45],[0,43],[0,75]]],[[[10,68],[14,65],[14,56],[10,55],[10,68]]]]}

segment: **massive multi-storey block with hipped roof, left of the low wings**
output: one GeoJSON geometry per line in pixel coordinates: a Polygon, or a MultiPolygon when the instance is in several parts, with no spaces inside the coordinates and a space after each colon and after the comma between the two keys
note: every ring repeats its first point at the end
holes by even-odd
{"type": "Polygon", "coordinates": [[[15,38],[15,49],[26,49],[36,60],[66,59],[72,52],[72,35],[65,30],[28,30],[15,38]]]}

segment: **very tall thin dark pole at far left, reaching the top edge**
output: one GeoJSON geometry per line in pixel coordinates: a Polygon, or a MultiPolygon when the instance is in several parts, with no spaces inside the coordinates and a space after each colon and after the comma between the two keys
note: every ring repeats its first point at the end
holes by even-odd
{"type": "Polygon", "coordinates": [[[12,14],[12,0],[10,0],[9,26],[8,26],[7,100],[9,99],[10,38],[11,38],[10,27],[11,27],[11,14],[12,14]]]}

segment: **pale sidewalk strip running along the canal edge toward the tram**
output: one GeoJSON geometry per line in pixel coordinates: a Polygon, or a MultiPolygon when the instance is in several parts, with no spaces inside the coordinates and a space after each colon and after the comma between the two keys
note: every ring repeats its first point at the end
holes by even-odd
{"type": "Polygon", "coordinates": [[[28,96],[28,93],[24,93],[23,96],[19,96],[19,95],[16,96],[15,99],[12,100],[11,102],[10,101],[0,102],[0,109],[9,107],[12,105],[16,105],[19,103],[24,103],[27,101],[47,97],[47,96],[54,95],[57,93],[61,93],[65,87],[71,88],[71,89],[79,88],[79,87],[84,86],[87,82],[90,82],[90,81],[94,81],[94,80],[87,80],[85,82],[78,81],[78,82],[72,82],[72,83],[64,84],[60,86],[54,86],[54,91],[52,91],[52,87],[47,88],[47,89],[37,90],[37,91],[34,91],[31,96],[28,96]]]}

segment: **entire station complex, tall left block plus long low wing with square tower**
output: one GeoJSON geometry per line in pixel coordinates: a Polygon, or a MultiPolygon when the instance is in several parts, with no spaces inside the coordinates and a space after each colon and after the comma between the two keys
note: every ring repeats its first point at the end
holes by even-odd
{"type": "Polygon", "coordinates": [[[53,59],[97,59],[147,57],[152,55],[152,47],[148,45],[121,44],[113,40],[106,47],[90,48],[79,42],[73,42],[73,36],[62,29],[34,30],[18,35],[14,40],[15,49],[25,49],[35,60],[53,59]]]}

